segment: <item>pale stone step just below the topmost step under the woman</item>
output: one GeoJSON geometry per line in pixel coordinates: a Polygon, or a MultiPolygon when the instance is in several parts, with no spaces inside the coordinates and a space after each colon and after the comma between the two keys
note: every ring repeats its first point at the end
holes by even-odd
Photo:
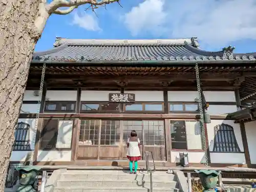
{"type": "MultiPolygon", "coordinates": [[[[65,173],[62,174],[61,179],[71,180],[71,179],[90,179],[90,180],[137,180],[137,181],[148,181],[150,180],[150,174],[144,173],[137,173],[129,174],[129,173],[118,173],[118,174],[111,174],[111,173],[65,173]]],[[[152,175],[153,181],[173,181],[175,180],[175,175],[173,174],[164,174],[158,175],[153,173],[152,175]]]]}

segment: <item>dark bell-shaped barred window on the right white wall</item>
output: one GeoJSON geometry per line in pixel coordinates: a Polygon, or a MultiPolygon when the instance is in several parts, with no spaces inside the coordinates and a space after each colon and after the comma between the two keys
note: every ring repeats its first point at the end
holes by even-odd
{"type": "Polygon", "coordinates": [[[232,126],[228,124],[215,126],[213,152],[241,152],[232,126]]]}

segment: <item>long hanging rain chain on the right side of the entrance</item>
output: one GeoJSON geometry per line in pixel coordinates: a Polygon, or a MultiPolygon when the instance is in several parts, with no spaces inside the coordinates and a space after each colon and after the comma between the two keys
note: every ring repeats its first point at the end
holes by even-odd
{"type": "Polygon", "coordinates": [[[205,167],[208,167],[208,156],[207,156],[207,146],[206,146],[206,137],[205,137],[205,130],[204,130],[204,113],[203,113],[203,104],[202,104],[202,94],[201,94],[201,86],[200,86],[200,78],[199,78],[199,69],[198,64],[195,67],[196,70],[196,78],[197,78],[197,91],[199,95],[199,112],[200,112],[200,125],[201,125],[201,133],[202,133],[202,140],[203,140],[203,149],[205,152],[205,167]]]}

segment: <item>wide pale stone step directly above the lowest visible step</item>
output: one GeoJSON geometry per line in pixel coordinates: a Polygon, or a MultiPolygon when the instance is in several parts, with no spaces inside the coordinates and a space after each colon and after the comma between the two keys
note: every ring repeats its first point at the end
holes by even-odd
{"type": "MultiPolygon", "coordinates": [[[[138,180],[97,180],[92,181],[90,179],[72,179],[72,180],[59,180],[57,186],[66,188],[69,186],[76,187],[146,187],[150,188],[150,181],[138,181],[138,180]]],[[[176,188],[178,183],[176,181],[153,181],[153,187],[164,188],[176,188]]]]}

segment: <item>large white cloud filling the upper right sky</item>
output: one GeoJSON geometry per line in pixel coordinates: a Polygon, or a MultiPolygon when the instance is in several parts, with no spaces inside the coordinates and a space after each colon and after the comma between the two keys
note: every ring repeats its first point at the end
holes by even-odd
{"type": "Polygon", "coordinates": [[[134,36],[198,36],[205,45],[256,39],[255,0],[145,0],[123,16],[134,36]]]}

